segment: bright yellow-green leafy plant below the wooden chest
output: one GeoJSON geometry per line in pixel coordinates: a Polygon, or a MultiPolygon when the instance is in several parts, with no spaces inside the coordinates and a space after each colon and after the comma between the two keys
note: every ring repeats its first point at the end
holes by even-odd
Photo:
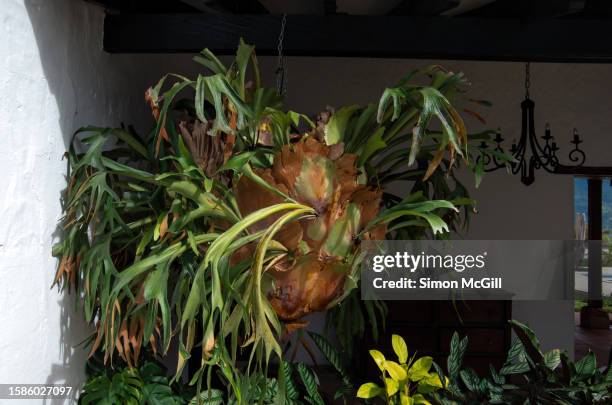
{"type": "Polygon", "coordinates": [[[446,377],[436,370],[429,356],[408,356],[406,342],[399,335],[391,337],[397,362],[387,360],[378,350],[370,350],[370,356],[381,371],[381,385],[374,382],[362,384],[357,397],[382,398],[387,404],[430,404],[427,396],[446,385],[446,377]]]}

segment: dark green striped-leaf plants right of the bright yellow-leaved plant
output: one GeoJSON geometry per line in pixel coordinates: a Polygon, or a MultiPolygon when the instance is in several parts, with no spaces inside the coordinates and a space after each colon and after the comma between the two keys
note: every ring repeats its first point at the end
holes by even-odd
{"type": "Polygon", "coordinates": [[[434,398],[442,404],[595,404],[612,400],[610,364],[597,368],[595,355],[589,352],[572,363],[565,353],[555,349],[542,353],[535,333],[526,325],[510,321],[516,339],[500,370],[490,367],[481,378],[463,367],[467,337],[455,333],[447,361],[449,384],[434,398]]]}

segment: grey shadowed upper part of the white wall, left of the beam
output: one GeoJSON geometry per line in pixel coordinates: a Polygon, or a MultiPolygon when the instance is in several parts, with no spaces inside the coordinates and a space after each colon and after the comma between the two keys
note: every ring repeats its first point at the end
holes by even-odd
{"type": "Polygon", "coordinates": [[[143,94],[151,74],[143,72],[147,65],[140,61],[153,62],[155,57],[104,53],[104,13],[97,6],[82,0],[24,0],[24,4],[66,147],[82,125],[118,126],[126,119],[141,127],[149,123],[143,94]]]}

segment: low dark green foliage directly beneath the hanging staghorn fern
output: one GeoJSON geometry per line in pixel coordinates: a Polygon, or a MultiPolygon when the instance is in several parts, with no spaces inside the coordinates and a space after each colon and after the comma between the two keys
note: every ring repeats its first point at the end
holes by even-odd
{"type": "MultiPolygon", "coordinates": [[[[353,395],[353,383],[342,354],[322,335],[311,332],[315,346],[331,365],[339,381],[335,394],[328,396],[320,389],[315,368],[305,363],[282,361],[279,379],[262,373],[235,372],[231,365],[218,361],[218,381],[221,386],[201,389],[183,379],[171,381],[166,368],[147,353],[140,367],[128,368],[120,358],[115,368],[105,367],[99,354],[87,362],[87,381],[79,395],[81,404],[164,404],[164,405],[222,405],[222,404],[313,404],[324,405],[332,400],[353,395]],[[279,383],[282,382],[282,383],[279,383]],[[226,387],[231,387],[227,390],[226,387]]],[[[215,354],[213,354],[215,356],[215,354]]],[[[219,384],[217,382],[216,384],[219,384]]]]}

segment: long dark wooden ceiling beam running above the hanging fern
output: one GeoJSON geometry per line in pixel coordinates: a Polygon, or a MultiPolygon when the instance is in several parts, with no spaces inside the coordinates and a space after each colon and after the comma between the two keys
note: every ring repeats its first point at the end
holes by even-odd
{"type": "MultiPolygon", "coordinates": [[[[111,53],[234,53],[241,37],[258,54],[276,54],[280,16],[225,14],[107,15],[104,49],[111,53]]],[[[285,53],[541,62],[612,63],[609,20],[287,17],[285,53]]]]}

